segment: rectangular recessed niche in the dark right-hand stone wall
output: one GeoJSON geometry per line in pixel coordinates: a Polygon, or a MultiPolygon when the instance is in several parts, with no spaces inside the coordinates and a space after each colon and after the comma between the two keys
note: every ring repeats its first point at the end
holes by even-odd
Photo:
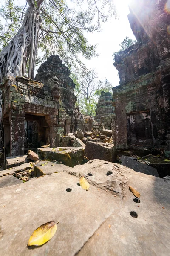
{"type": "Polygon", "coordinates": [[[127,114],[127,143],[128,145],[153,144],[149,110],[127,114]]]}

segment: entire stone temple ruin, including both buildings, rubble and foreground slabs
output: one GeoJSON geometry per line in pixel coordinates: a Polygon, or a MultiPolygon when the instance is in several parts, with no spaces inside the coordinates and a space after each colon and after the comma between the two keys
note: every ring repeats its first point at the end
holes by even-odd
{"type": "Polygon", "coordinates": [[[0,169],[2,255],[170,255],[166,2],[131,1],[138,42],[116,55],[120,84],[113,95],[101,93],[95,124],[75,108],[75,84],[57,55],[36,80],[4,78],[5,156],[14,157],[0,169]],[[24,155],[30,145],[36,153],[24,155]],[[28,247],[47,221],[58,224],[57,233],[28,247]]]}

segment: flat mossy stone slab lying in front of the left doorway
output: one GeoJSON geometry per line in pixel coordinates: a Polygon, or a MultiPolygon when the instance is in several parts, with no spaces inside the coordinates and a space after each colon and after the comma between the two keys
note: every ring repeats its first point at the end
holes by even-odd
{"type": "Polygon", "coordinates": [[[63,164],[74,167],[84,161],[85,149],[82,147],[58,147],[58,148],[38,148],[37,153],[41,159],[56,160],[63,164]]]}

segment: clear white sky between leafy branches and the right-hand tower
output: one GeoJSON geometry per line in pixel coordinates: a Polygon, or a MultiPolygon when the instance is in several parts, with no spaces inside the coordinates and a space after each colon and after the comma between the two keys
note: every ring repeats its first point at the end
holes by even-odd
{"type": "Polygon", "coordinates": [[[98,44],[97,52],[99,57],[91,60],[83,60],[88,68],[95,68],[99,79],[107,78],[114,86],[119,85],[118,71],[113,66],[113,52],[121,47],[119,44],[125,36],[136,39],[130,29],[127,18],[129,14],[128,0],[114,0],[119,19],[108,21],[102,24],[102,32],[87,33],[90,44],[98,44]]]}

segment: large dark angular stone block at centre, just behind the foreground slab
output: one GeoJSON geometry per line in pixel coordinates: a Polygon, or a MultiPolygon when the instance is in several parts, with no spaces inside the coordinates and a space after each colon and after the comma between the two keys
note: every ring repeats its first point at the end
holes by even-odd
{"type": "Polygon", "coordinates": [[[89,160],[101,159],[109,162],[116,160],[117,151],[113,144],[105,144],[103,142],[87,141],[85,145],[85,156],[89,160]]]}

